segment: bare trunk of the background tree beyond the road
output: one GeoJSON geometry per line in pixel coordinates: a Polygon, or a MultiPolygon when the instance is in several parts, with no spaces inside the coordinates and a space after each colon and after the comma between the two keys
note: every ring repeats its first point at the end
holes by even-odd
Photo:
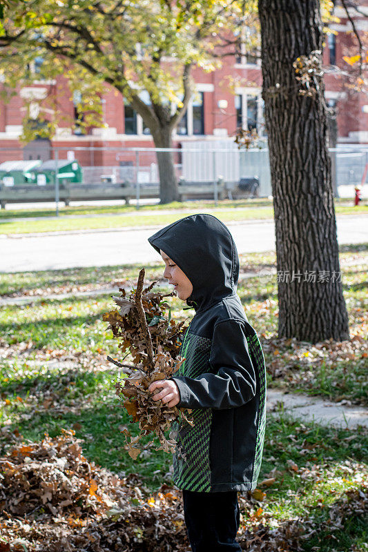
{"type": "MultiPolygon", "coordinates": [[[[171,129],[168,126],[160,126],[153,132],[153,141],[156,148],[172,148],[171,129]]],[[[175,175],[173,152],[156,152],[159,170],[159,200],[160,203],[177,201],[179,190],[175,175]]]]}

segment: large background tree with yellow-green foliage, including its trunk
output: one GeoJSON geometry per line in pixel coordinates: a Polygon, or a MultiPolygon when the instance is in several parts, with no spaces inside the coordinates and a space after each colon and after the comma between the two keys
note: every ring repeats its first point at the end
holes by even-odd
{"type": "MultiPolygon", "coordinates": [[[[211,71],[218,66],[231,33],[249,10],[255,10],[254,0],[8,0],[0,24],[5,85],[30,81],[27,68],[42,57],[43,77],[66,75],[72,91],[83,92],[81,124],[92,120],[91,112],[101,111],[95,92],[108,83],[142,116],[155,146],[171,148],[172,132],[195,90],[193,67],[211,71]],[[151,104],[139,97],[142,90],[151,104]]],[[[56,119],[48,121],[48,130],[55,124],[56,119]]],[[[159,152],[157,163],[161,201],[173,201],[173,155],[159,152]]]]}

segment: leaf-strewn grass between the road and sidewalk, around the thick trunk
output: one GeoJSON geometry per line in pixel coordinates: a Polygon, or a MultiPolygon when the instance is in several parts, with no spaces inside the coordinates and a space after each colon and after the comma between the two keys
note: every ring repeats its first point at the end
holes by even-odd
{"type": "MultiPolygon", "coordinates": [[[[340,262],[352,261],[343,270],[343,289],[349,312],[351,342],[323,342],[311,345],[293,339],[278,339],[277,282],[274,275],[267,281],[258,277],[240,280],[238,293],[249,322],[262,342],[267,362],[268,384],[291,391],[321,395],[331,400],[349,400],[367,404],[367,353],[363,338],[367,332],[365,298],[368,268],[365,249],[360,244],[340,248],[340,262]]],[[[275,253],[241,256],[243,270],[258,272],[275,263],[275,253]]],[[[93,289],[113,284],[134,284],[140,266],[79,268],[3,275],[1,292],[8,295],[36,294],[26,305],[7,305],[0,311],[0,343],[14,354],[28,347],[23,355],[52,357],[53,351],[69,355],[106,355],[116,351],[116,344],[105,333],[103,313],[113,308],[109,294],[96,297],[48,299],[48,293],[93,289]],[[37,293],[45,293],[37,297],[37,293]]],[[[162,277],[162,264],[147,270],[147,282],[162,277]]],[[[192,316],[183,311],[184,303],[172,298],[173,316],[192,316]]],[[[0,361],[1,364],[1,361],[0,361]]]]}

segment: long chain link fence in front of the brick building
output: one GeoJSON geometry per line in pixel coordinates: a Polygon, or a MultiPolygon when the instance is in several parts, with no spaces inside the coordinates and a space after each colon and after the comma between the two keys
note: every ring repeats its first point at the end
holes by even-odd
{"type": "MultiPolygon", "coordinates": [[[[171,148],[180,200],[262,198],[272,195],[267,148],[238,150],[236,144],[213,147],[198,141],[191,147],[171,148]]],[[[0,203],[39,201],[159,200],[156,148],[57,147],[48,157],[39,148],[0,148],[0,203]]],[[[330,150],[340,197],[353,198],[365,183],[368,148],[330,150]]],[[[367,197],[367,185],[362,196],[367,197]]]]}

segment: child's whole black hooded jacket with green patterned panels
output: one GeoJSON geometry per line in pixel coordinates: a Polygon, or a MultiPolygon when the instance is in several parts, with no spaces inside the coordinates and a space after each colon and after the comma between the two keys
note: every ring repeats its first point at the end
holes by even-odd
{"type": "Polygon", "coordinates": [[[193,426],[176,422],[173,481],[187,491],[255,489],[266,425],[262,347],[236,289],[239,258],[228,228],[212,215],[176,221],[148,242],[162,249],[193,285],[188,326],[173,380],[178,408],[191,408],[193,426]]]}

